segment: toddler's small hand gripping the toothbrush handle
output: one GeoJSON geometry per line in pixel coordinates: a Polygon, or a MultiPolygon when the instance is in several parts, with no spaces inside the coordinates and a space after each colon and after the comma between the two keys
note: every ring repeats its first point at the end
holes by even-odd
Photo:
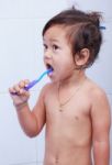
{"type": "Polygon", "coordinates": [[[29,80],[21,80],[19,84],[9,88],[10,96],[15,107],[21,107],[26,103],[30,98],[30,92],[24,89],[29,85],[29,80]]]}

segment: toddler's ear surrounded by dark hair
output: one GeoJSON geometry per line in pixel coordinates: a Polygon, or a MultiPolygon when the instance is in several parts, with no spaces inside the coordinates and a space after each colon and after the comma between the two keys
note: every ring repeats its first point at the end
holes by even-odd
{"type": "Polygon", "coordinates": [[[78,67],[85,66],[88,63],[90,56],[90,51],[88,48],[82,48],[80,53],[75,55],[75,62],[78,67]]]}

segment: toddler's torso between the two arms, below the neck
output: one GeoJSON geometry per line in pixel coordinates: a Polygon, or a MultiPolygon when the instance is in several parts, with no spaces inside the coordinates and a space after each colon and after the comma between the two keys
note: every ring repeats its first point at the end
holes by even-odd
{"type": "Polygon", "coordinates": [[[58,94],[51,91],[46,102],[45,165],[75,165],[76,161],[77,165],[90,165],[91,118],[88,95],[77,94],[60,109],[58,94]]]}

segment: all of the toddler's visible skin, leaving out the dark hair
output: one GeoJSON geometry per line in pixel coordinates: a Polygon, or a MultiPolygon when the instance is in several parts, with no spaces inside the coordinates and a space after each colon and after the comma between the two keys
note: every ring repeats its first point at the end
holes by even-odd
{"type": "MultiPolygon", "coordinates": [[[[46,124],[44,165],[91,165],[91,147],[94,165],[109,165],[110,106],[104,91],[86,77],[85,70],[75,69],[60,26],[47,30],[44,45],[45,64],[54,72],[33,110],[27,105],[30,94],[23,89],[29,81],[9,89],[23,131],[33,138],[46,124]]],[[[83,48],[81,53],[81,59],[76,55],[77,65],[88,61],[89,51],[83,48]]]]}

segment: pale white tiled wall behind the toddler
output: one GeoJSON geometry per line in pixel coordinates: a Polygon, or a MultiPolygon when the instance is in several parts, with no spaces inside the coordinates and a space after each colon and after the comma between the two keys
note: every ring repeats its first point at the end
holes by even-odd
{"type": "MultiPolygon", "coordinates": [[[[112,1],[72,1],[78,9],[103,12],[102,24],[107,26],[102,32],[103,45],[99,59],[87,74],[105,90],[112,107],[112,1]]],[[[8,88],[24,78],[32,80],[45,69],[42,29],[49,18],[70,7],[72,1],[0,0],[0,165],[42,165],[44,131],[35,139],[25,136],[18,122],[8,88]]],[[[31,91],[31,108],[47,80],[44,78],[31,91]]]]}

